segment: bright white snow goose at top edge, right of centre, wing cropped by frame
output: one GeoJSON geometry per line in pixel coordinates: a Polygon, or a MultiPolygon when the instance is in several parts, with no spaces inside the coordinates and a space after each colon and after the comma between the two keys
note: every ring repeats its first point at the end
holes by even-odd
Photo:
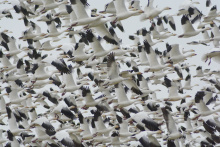
{"type": "Polygon", "coordinates": [[[153,1],[154,0],[148,0],[147,6],[144,8],[144,14],[141,15],[140,20],[144,21],[146,19],[153,19],[157,17],[160,13],[162,13],[165,10],[170,10],[170,7],[164,7],[163,9],[158,9],[153,7],[153,1]]]}

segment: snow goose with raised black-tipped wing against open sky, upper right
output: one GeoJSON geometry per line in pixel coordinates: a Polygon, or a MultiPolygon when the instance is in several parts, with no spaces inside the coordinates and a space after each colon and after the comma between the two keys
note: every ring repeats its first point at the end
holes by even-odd
{"type": "Polygon", "coordinates": [[[183,17],[181,18],[181,25],[183,28],[183,34],[179,35],[178,36],[179,38],[189,38],[189,37],[198,35],[202,31],[211,29],[211,28],[204,28],[204,29],[195,30],[191,22],[189,21],[189,18],[187,15],[183,15],[183,17]]]}

